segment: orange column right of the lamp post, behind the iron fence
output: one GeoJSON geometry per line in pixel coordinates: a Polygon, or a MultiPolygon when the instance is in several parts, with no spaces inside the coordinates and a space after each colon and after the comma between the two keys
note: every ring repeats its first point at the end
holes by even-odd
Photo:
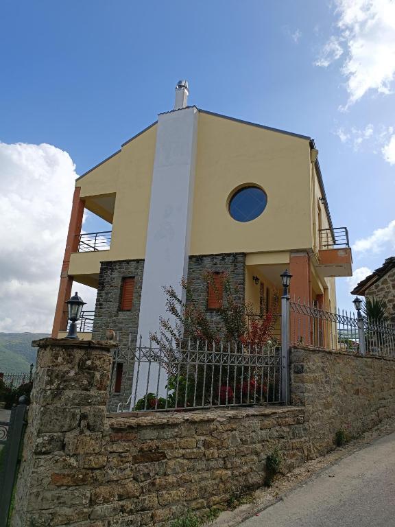
{"type": "MultiPolygon", "coordinates": [[[[292,274],[289,295],[291,301],[310,305],[311,303],[311,277],[310,259],[304,252],[291,254],[289,259],[289,272],[292,274]]],[[[311,343],[311,318],[307,314],[290,313],[291,342],[293,344],[311,343]]]]}

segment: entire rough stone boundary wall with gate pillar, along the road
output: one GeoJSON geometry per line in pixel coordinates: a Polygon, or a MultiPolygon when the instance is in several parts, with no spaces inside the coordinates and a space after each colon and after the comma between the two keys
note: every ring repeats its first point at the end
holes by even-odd
{"type": "Polygon", "coordinates": [[[167,527],[395,414],[395,360],[293,349],[298,406],[106,415],[108,347],[40,346],[12,527],[167,527]]]}

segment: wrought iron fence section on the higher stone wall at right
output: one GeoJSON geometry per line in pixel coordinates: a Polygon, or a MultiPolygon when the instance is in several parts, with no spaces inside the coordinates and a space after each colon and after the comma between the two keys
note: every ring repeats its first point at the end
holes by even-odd
{"type": "Polygon", "coordinates": [[[289,307],[291,345],[395,357],[395,325],[358,318],[344,310],[331,313],[296,300],[289,301],[289,307]]]}

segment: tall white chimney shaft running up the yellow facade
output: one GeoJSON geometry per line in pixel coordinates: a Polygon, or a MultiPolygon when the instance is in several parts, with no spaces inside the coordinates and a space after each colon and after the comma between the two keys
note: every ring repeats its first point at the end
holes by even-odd
{"type": "MultiPolygon", "coordinates": [[[[166,312],[163,286],[173,285],[183,296],[180,281],[188,274],[197,115],[197,108],[193,106],[158,117],[139,314],[138,338],[141,336],[143,346],[149,345],[149,333],[160,333],[160,316],[171,319],[166,312]]],[[[149,376],[149,390],[155,393],[157,369],[151,368],[149,376]]],[[[137,387],[137,398],[145,395],[147,372],[140,370],[139,377],[142,380],[137,387]]],[[[166,379],[162,373],[160,377],[163,395],[166,379]]]]}

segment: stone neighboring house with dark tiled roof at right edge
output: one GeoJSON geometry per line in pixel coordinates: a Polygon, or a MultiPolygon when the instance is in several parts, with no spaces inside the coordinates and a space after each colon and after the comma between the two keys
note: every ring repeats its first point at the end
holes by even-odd
{"type": "Polygon", "coordinates": [[[381,267],[361,280],[351,294],[382,298],[387,304],[390,322],[395,323],[395,257],[387,258],[381,267]]]}

